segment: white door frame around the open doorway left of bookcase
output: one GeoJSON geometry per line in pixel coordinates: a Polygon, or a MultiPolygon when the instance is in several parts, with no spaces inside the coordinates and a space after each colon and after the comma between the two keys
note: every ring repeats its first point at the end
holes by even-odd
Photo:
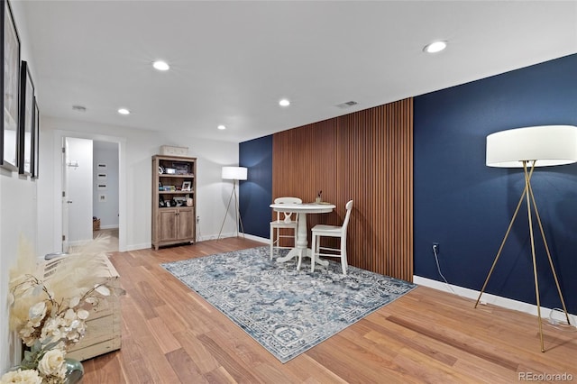
{"type": "Polygon", "coordinates": [[[62,141],[65,137],[118,144],[118,251],[126,249],[126,138],[97,133],[54,131],[54,237],[52,249],[62,248],[62,141]]]}

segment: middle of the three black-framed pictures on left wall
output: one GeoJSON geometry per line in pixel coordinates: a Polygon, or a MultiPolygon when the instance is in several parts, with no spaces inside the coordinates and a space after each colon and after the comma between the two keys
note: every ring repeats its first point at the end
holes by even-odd
{"type": "Polygon", "coordinates": [[[26,61],[20,66],[20,133],[18,134],[18,173],[32,176],[34,134],[34,82],[26,61]]]}

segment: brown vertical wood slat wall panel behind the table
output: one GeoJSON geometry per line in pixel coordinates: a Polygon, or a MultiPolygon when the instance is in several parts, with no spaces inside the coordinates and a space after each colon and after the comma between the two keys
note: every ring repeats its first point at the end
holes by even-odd
{"type": "Polygon", "coordinates": [[[275,133],[272,197],[308,202],[321,189],[337,208],[308,227],[341,224],[353,199],[349,264],[412,281],[413,99],[275,133]]]}

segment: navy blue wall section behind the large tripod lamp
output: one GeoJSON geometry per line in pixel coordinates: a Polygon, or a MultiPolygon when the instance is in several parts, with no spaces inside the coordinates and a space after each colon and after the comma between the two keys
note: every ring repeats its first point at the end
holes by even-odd
{"type": "MultiPolygon", "coordinates": [[[[485,166],[485,140],[511,128],[577,125],[577,55],[414,99],[415,274],[481,290],[524,188],[522,169],[485,166]]],[[[577,164],[531,179],[569,312],[577,314],[577,164]]],[[[540,239],[538,227],[536,238],[540,239]]],[[[561,307],[543,242],[536,242],[541,305],[561,307]]],[[[536,304],[527,206],[486,292],[536,304]]]]}

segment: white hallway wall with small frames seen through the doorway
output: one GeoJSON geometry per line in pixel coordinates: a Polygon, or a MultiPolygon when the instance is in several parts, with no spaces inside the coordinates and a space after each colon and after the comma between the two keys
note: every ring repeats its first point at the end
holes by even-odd
{"type": "Polygon", "coordinates": [[[116,142],[93,142],[92,215],[100,219],[102,229],[118,228],[118,151],[116,142]],[[104,164],[106,169],[98,169],[99,164],[104,164]]]}

